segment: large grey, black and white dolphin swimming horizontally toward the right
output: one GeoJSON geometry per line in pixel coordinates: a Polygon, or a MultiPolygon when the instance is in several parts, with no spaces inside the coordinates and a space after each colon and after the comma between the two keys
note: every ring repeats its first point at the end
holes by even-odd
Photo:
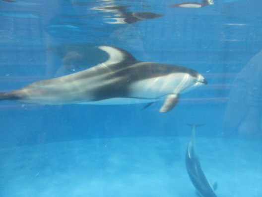
{"type": "Polygon", "coordinates": [[[168,64],[141,62],[127,51],[100,46],[109,59],[92,68],[29,84],[1,93],[10,99],[37,104],[131,104],[165,99],[160,112],[171,110],[180,93],[207,81],[196,71],[168,64]]]}

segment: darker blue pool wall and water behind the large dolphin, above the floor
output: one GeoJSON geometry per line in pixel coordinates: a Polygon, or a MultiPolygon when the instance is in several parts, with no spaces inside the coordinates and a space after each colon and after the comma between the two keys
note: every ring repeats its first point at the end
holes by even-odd
{"type": "MultiPolygon", "coordinates": [[[[130,51],[138,60],[193,68],[209,83],[183,95],[178,106],[166,114],[158,112],[161,102],[142,110],[141,104],[40,106],[1,101],[0,147],[119,136],[188,136],[186,122],[206,123],[200,136],[222,137],[229,132],[224,128],[224,113],[230,88],[261,50],[262,3],[224,0],[199,9],[168,6],[179,2],[113,1],[127,6],[128,11],[163,16],[107,24],[106,18],[114,13],[91,8],[110,2],[1,1],[2,92],[68,74],[63,54],[53,49],[70,44],[86,49],[90,61],[82,69],[107,58],[95,53],[95,46],[113,45],[130,51]]],[[[237,133],[238,128],[234,129],[237,133]]]]}

